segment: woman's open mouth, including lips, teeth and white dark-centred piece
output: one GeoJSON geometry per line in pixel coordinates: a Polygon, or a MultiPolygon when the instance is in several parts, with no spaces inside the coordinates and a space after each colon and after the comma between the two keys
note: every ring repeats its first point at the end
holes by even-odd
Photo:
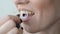
{"type": "Polygon", "coordinates": [[[20,14],[20,19],[23,22],[25,22],[25,21],[30,20],[35,13],[31,10],[21,9],[19,10],[19,14],[20,14]]]}

